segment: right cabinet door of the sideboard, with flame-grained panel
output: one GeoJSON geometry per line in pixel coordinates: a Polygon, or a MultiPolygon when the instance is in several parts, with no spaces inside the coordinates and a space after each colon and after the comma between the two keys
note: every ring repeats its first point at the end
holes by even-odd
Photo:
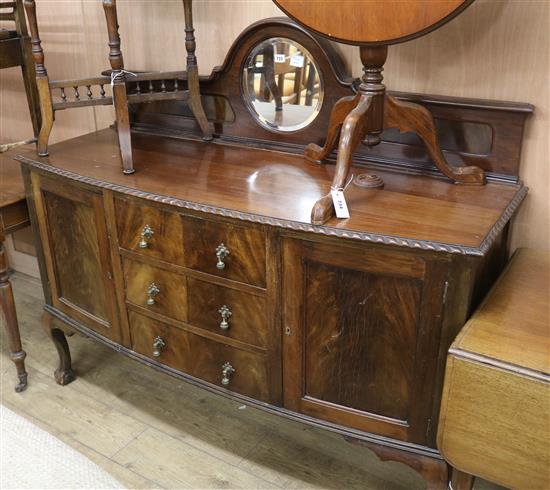
{"type": "Polygon", "coordinates": [[[425,442],[444,270],[408,252],[285,239],[285,407],[425,442]]]}

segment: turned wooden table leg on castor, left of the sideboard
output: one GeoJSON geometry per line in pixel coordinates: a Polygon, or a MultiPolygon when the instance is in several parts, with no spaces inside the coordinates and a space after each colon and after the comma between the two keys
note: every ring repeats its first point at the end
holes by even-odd
{"type": "Polygon", "coordinates": [[[25,371],[25,357],[27,355],[21,347],[21,336],[17,323],[13,291],[8,278],[8,265],[4,252],[4,235],[2,234],[0,234],[0,308],[6,329],[10,359],[15,364],[19,378],[15,391],[20,393],[27,387],[27,372],[25,371]]]}

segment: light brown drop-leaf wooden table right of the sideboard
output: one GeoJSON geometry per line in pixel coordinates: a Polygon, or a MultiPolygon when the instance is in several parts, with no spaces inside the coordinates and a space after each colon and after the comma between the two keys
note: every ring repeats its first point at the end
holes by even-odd
{"type": "Polygon", "coordinates": [[[550,255],[520,249],[447,358],[438,447],[453,490],[474,475],[550,488],[550,255]]]}

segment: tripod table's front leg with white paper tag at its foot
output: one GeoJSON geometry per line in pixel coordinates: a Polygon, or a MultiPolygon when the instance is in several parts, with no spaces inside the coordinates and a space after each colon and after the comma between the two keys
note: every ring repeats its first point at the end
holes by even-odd
{"type": "MultiPolygon", "coordinates": [[[[361,95],[357,107],[345,118],[338,144],[338,157],[336,159],[336,172],[332,179],[331,188],[340,189],[346,185],[353,152],[363,141],[368,132],[368,116],[373,97],[361,95]]],[[[334,215],[332,197],[329,194],[319,199],[311,211],[311,222],[314,225],[326,223],[334,215]]]]}

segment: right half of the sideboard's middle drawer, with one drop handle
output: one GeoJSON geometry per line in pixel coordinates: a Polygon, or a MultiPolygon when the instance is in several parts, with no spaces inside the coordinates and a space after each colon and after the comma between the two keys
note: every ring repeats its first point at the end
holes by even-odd
{"type": "Polygon", "coordinates": [[[191,277],[187,284],[190,324],[259,347],[268,345],[265,297],[191,277]]]}

